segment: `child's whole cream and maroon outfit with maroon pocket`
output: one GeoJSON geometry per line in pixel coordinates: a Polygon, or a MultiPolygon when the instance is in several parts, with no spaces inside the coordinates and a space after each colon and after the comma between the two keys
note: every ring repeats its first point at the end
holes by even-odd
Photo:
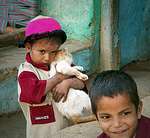
{"type": "Polygon", "coordinates": [[[18,71],[18,101],[27,120],[27,138],[51,138],[68,121],[57,111],[50,93],[45,94],[49,68],[34,64],[30,54],[18,71]]]}

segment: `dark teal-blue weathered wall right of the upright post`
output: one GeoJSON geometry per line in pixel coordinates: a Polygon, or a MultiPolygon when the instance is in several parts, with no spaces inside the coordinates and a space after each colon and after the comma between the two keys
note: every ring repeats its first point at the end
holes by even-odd
{"type": "Polygon", "coordinates": [[[150,1],[119,0],[121,66],[150,58],[150,1]]]}

